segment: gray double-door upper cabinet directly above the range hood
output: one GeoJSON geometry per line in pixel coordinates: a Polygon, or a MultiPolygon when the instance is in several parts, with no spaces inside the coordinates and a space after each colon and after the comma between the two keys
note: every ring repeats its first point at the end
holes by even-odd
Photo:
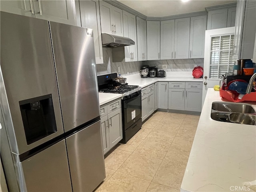
{"type": "Polygon", "coordinates": [[[101,32],[124,36],[122,10],[100,1],[101,32]]]}

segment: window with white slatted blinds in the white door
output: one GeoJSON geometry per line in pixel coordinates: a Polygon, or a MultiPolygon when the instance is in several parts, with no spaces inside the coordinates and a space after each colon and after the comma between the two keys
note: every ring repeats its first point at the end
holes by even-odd
{"type": "Polygon", "coordinates": [[[234,35],[212,36],[209,78],[219,79],[232,72],[236,57],[233,56],[234,35]]]}

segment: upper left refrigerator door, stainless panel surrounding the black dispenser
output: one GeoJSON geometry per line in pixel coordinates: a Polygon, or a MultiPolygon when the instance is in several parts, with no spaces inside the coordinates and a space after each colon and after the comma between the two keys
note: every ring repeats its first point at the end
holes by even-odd
{"type": "MultiPolygon", "coordinates": [[[[1,104],[4,118],[10,107],[15,132],[10,136],[14,138],[10,143],[16,144],[16,137],[18,144],[18,150],[12,146],[12,152],[22,154],[64,132],[49,26],[48,21],[42,19],[6,12],[0,14],[1,70],[8,98],[8,102],[1,104]],[[19,101],[49,94],[52,96],[57,131],[29,144],[26,141],[19,101]]],[[[2,83],[1,90],[4,88],[2,83]]],[[[1,91],[3,94],[4,92],[1,91]]],[[[1,94],[1,100],[4,98],[2,96],[1,94]]],[[[8,129],[8,134],[11,134],[11,127],[8,129]]],[[[33,129],[35,130],[36,128],[33,129]]]]}

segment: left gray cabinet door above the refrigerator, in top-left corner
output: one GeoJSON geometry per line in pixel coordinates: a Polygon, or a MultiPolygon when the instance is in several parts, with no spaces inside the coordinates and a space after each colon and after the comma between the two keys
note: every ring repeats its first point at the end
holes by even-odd
{"type": "Polygon", "coordinates": [[[34,11],[32,12],[33,3],[30,0],[1,0],[0,1],[0,9],[1,11],[14,13],[24,16],[34,17],[34,11]]]}

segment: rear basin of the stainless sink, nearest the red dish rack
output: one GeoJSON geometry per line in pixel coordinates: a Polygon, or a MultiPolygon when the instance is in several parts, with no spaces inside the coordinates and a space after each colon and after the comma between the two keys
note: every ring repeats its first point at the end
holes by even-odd
{"type": "Polygon", "coordinates": [[[224,112],[256,113],[254,108],[247,103],[213,102],[212,109],[224,112]]]}

